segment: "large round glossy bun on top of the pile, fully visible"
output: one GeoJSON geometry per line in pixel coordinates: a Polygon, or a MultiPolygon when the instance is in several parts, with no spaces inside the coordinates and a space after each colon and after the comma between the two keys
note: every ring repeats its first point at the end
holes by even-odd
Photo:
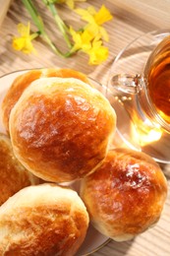
{"type": "Polygon", "coordinates": [[[105,158],[115,127],[115,111],[106,97],[74,78],[32,82],[10,115],[18,160],[55,182],[92,172],[105,158]]]}

